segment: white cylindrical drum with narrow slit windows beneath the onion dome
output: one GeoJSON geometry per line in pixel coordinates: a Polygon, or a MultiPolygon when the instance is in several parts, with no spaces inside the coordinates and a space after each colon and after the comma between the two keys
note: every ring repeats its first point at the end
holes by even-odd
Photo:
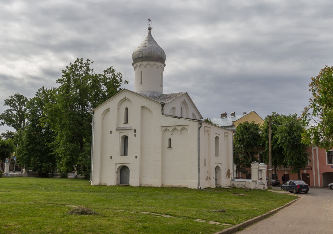
{"type": "Polygon", "coordinates": [[[165,64],[156,61],[138,61],[133,63],[135,71],[135,92],[158,92],[163,93],[163,72],[165,64]],[[142,84],[141,84],[142,72],[142,84]],[[161,84],[162,74],[162,84],[161,84]]]}

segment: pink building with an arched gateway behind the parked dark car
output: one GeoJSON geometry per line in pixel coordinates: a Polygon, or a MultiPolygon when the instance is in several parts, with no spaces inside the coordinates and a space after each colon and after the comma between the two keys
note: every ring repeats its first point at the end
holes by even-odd
{"type": "MultiPolygon", "coordinates": [[[[311,187],[327,187],[333,182],[333,150],[327,153],[324,148],[312,146],[308,147],[308,152],[311,161],[301,170],[301,180],[311,187]]],[[[276,173],[281,183],[282,176],[285,181],[298,179],[297,174],[291,174],[291,168],[279,168],[276,173]]]]}

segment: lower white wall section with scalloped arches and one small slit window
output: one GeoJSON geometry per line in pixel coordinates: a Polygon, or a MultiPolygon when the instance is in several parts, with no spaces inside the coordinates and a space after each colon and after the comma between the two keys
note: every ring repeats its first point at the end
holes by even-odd
{"type": "Polygon", "coordinates": [[[162,116],[162,186],[197,188],[197,127],[196,120],[162,116]]]}

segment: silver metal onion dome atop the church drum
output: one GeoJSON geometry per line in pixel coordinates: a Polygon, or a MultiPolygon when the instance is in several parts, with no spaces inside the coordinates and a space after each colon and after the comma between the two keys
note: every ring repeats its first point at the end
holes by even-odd
{"type": "Polygon", "coordinates": [[[133,62],[138,62],[142,60],[152,60],[165,63],[166,54],[164,50],[159,46],[152,36],[152,28],[148,28],[148,35],[141,44],[134,49],[132,54],[133,62]]]}

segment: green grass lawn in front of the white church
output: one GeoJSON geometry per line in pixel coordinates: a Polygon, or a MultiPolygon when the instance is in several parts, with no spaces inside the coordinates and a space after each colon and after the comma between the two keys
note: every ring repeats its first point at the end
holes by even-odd
{"type": "Polygon", "coordinates": [[[292,195],[234,188],[90,186],[83,179],[5,177],[0,178],[0,233],[211,234],[229,227],[222,224],[241,223],[293,199],[292,195]],[[74,206],[99,214],[68,214],[74,206]],[[211,211],[216,209],[226,212],[211,211]]]}

